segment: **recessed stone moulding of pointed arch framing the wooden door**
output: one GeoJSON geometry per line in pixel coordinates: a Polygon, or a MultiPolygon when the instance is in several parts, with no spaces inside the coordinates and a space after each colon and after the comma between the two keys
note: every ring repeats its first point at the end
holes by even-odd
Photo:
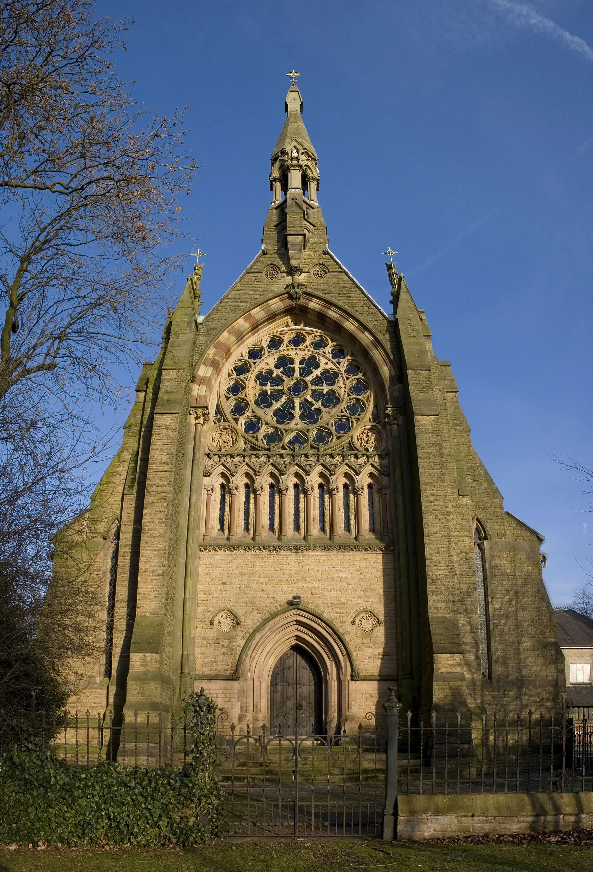
{"type": "Polygon", "coordinates": [[[241,678],[242,718],[269,724],[269,683],[279,657],[293,645],[310,653],[324,678],[324,719],[328,730],[341,726],[348,712],[348,683],[356,674],[351,651],[330,623],[303,607],[271,615],[243,645],[236,671],[241,678]]]}

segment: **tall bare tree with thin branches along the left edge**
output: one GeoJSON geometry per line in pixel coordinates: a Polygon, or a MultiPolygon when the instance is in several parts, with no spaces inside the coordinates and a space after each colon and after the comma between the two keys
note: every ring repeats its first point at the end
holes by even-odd
{"type": "Polygon", "coordinates": [[[87,568],[47,597],[48,548],[88,494],[92,404],[117,401],[114,372],[169,302],[195,166],[182,113],[150,115],[115,75],[126,25],[92,13],[0,0],[0,708],[15,716],[31,690],[59,707],[60,657],[92,635],[76,629],[87,568]]]}

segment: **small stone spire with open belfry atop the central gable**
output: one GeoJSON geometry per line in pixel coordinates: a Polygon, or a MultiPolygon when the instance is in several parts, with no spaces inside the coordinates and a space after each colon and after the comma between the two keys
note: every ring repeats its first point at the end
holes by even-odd
{"type": "Polygon", "coordinates": [[[269,189],[273,207],[284,195],[286,249],[294,272],[300,271],[303,259],[306,206],[317,206],[319,171],[317,152],[301,118],[303,98],[297,85],[292,85],[286,95],[285,110],[286,121],[271,154],[269,189]]]}

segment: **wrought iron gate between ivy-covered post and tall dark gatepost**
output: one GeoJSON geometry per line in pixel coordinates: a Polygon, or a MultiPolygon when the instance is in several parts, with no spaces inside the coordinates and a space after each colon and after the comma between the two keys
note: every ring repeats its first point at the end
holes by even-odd
{"type": "MultiPolygon", "coordinates": [[[[373,719],[372,715],[369,720],[373,719]]],[[[353,734],[218,734],[222,835],[382,835],[385,739],[353,734]]]]}

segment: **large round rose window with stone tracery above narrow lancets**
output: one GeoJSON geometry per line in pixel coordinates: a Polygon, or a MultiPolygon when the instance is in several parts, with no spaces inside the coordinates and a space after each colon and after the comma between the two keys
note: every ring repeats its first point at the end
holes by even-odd
{"type": "Polygon", "coordinates": [[[290,451],[343,444],[377,420],[371,384],[351,351],[294,327],[243,350],[222,381],[217,413],[246,441],[290,451]]]}

